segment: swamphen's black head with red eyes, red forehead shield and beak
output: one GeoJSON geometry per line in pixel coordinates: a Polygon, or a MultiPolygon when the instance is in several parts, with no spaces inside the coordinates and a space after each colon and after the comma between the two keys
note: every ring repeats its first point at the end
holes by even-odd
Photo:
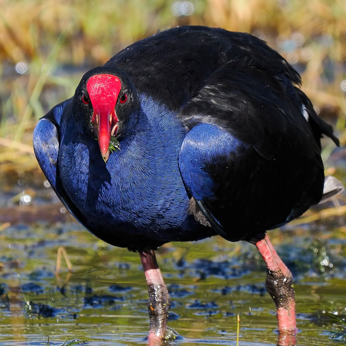
{"type": "Polygon", "coordinates": [[[74,113],[99,142],[107,162],[111,136],[119,138],[134,107],[134,86],[127,76],[114,69],[96,67],[79,83],[73,100],[74,113]]]}

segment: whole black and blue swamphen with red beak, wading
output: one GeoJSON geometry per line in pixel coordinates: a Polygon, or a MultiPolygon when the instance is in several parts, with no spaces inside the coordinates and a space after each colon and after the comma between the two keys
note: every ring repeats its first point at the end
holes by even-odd
{"type": "Polygon", "coordinates": [[[154,250],[214,235],[256,245],[279,331],[294,333],[292,274],[266,231],[321,200],[320,138],[339,145],[300,84],[252,35],[182,26],[86,72],[38,122],[36,158],[66,208],[105,242],[139,253],[149,337],[164,335],[170,307],[154,250]]]}

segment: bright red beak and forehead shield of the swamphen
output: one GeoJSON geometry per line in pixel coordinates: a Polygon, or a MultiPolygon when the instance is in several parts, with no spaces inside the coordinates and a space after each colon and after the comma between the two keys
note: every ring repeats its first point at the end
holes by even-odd
{"type": "Polygon", "coordinates": [[[98,125],[97,138],[104,161],[108,160],[111,133],[116,135],[118,118],[115,105],[121,89],[119,78],[112,74],[97,74],[86,83],[94,110],[91,122],[98,125]]]}

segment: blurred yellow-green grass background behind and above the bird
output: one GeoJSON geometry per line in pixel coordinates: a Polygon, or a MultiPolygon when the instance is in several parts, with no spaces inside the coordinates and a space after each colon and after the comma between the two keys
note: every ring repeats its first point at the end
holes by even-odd
{"type": "Polygon", "coordinates": [[[84,72],[158,29],[185,24],[266,40],[301,73],[303,90],[346,143],[345,0],[0,0],[0,8],[3,173],[40,172],[35,124],[73,95],[84,72]]]}

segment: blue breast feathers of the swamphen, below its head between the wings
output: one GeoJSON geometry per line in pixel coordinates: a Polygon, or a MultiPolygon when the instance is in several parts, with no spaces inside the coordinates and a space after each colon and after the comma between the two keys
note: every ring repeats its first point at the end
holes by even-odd
{"type": "Polygon", "coordinates": [[[121,140],[120,151],[113,152],[107,164],[98,142],[80,136],[73,125],[73,119],[67,119],[62,127],[60,178],[91,222],[107,233],[165,241],[196,237],[203,227],[187,213],[189,197],[178,167],[186,131],[174,112],[142,97],[135,135],[121,140]]]}

